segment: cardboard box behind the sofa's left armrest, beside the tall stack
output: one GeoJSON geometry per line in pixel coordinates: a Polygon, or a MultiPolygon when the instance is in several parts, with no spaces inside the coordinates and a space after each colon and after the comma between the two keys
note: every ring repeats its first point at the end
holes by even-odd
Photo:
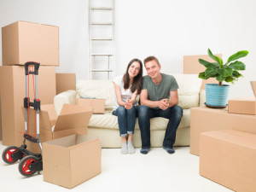
{"type": "Polygon", "coordinates": [[[56,73],[56,94],[66,90],[76,90],[76,74],[56,73]]]}

